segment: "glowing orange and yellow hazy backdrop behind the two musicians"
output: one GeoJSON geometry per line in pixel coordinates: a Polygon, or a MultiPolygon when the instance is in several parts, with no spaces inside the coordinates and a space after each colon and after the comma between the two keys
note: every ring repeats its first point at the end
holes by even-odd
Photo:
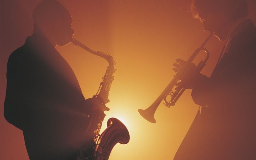
{"type": "MultiPolygon", "coordinates": [[[[27,160],[22,131],[3,116],[6,64],[9,55],[33,32],[32,12],[40,0],[1,0],[0,57],[0,159],[27,160]]],[[[174,75],[176,58],[184,60],[201,45],[207,33],[188,12],[190,0],[59,0],[73,17],[74,38],[94,51],[111,54],[116,61],[115,80],[109,94],[107,119],[120,119],[130,132],[130,142],[117,144],[110,160],[173,159],[192,123],[198,106],[186,91],[176,105],[163,104],[156,111],[156,124],[140,116],[159,96],[174,75]]],[[[249,0],[249,16],[256,22],[256,2],[249,0]]],[[[210,59],[202,73],[210,76],[223,42],[211,38],[206,44],[210,59]]],[[[57,47],[75,71],[85,98],[99,87],[108,63],[72,44],[57,47]]]]}

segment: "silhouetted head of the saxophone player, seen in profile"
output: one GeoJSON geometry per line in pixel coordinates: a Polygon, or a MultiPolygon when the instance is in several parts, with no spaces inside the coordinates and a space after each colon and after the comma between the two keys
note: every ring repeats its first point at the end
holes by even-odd
{"type": "Polygon", "coordinates": [[[53,45],[65,45],[71,41],[74,30],[68,10],[55,0],[43,0],[34,12],[34,33],[43,33],[53,45]]]}

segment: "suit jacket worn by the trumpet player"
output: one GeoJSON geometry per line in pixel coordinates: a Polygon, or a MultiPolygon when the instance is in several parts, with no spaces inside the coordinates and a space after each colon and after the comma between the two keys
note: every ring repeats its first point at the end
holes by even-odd
{"type": "Polygon", "coordinates": [[[174,159],[256,158],[256,28],[245,20],[231,34],[210,78],[195,84],[192,98],[204,106],[174,159]]]}

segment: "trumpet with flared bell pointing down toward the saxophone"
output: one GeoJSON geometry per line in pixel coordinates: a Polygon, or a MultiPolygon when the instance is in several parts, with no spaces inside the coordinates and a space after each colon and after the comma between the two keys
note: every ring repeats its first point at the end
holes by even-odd
{"type": "MultiPolygon", "coordinates": [[[[209,40],[209,38],[213,35],[210,34],[203,42],[203,44],[196,49],[196,51],[189,57],[189,59],[187,60],[187,62],[184,64],[184,68],[186,68],[186,66],[191,63],[195,57],[197,56],[197,54],[200,51],[205,51],[206,52],[206,58],[204,59],[204,61],[200,61],[198,63],[198,65],[196,66],[197,71],[200,72],[204,66],[206,65],[206,61],[209,58],[209,51],[204,48],[204,44],[209,40]]],[[[161,103],[162,100],[164,100],[164,105],[168,108],[170,108],[171,106],[174,106],[175,103],[177,102],[177,100],[180,98],[181,94],[186,90],[184,88],[174,88],[175,85],[177,84],[177,82],[180,81],[180,75],[182,74],[182,69],[181,71],[178,71],[176,73],[175,76],[173,76],[172,81],[167,85],[167,87],[164,89],[164,91],[160,94],[160,96],[151,104],[151,106],[149,106],[147,109],[143,110],[143,109],[139,109],[139,113],[140,115],[145,118],[146,120],[148,120],[151,123],[156,123],[156,120],[154,118],[154,114],[156,112],[156,109],[158,108],[159,104],[161,103]],[[175,91],[173,91],[173,88],[175,91]],[[171,97],[170,100],[167,100],[167,97],[171,97]]]]}

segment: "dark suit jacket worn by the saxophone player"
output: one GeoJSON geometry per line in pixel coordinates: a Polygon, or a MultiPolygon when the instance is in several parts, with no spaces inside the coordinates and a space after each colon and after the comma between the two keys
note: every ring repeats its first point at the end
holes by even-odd
{"type": "Polygon", "coordinates": [[[73,70],[44,36],[33,34],[10,55],[4,116],[23,130],[30,159],[67,158],[68,139],[85,129],[90,109],[73,70]]]}

